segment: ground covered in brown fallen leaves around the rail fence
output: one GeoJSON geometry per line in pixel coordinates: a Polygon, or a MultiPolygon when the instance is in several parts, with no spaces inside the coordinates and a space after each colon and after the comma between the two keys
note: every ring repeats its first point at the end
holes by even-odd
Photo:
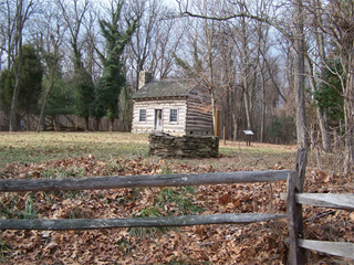
{"type": "MultiPolygon", "coordinates": [[[[87,147],[88,148],[88,147],[87,147]]],[[[159,159],[94,155],[43,162],[11,162],[0,178],[65,178],[197,173],[291,169],[289,156],[274,162],[223,149],[219,159],[159,159]],[[226,151],[225,151],[226,150],[226,151]]],[[[263,147],[264,148],[264,147],[263,147]]],[[[287,147],[284,147],[287,148],[287,147]]],[[[253,152],[252,152],[253,151],[253,152]]],[[[278,158],[279,159],[279,158],[278,158]]],[[[330,174],[309,162],[305,191],[353,192],[353,179],[330,174]]],[[[10,192],[0,194],[2,219],[108,219],[212,213],[285,213],[280,192],[285,181],[186,188],[144,188],[81,192],[10,192]]],[[[304,208],[306,239],[354,243],[354,214],[304,208]]],[[[179,229],[112,229],[94,231],[1,231],[2,264],[287,264],[287,219],[249,225],[196,225],[179,229]]],[[[308,252],[309,264],[353,261],[308,252]]]]}

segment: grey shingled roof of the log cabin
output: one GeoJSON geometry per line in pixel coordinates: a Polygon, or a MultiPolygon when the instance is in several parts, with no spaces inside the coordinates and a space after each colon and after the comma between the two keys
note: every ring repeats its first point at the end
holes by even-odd
{"type": "Polygon", "coordinates": [[[133,95],[133,99],[185,97],[196,85],[194,80],[150,81],[133,95]]]}

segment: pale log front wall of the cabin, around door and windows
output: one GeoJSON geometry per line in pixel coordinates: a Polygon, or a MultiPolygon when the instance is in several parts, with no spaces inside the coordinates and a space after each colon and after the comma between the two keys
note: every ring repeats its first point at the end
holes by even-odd
{"type": "Polygon", "coordinates": [[[162,130],[168,134],[186,134],[187,104],[185,98],[134,100],[132,131],[149,134],[155,130],[155,110],[162,109],[162,130]],[[139,121],[140,109],[146,109],[146,121],[139,121]],[[170,109],[177,109],[177,123],[169,121],[170,109]]]}

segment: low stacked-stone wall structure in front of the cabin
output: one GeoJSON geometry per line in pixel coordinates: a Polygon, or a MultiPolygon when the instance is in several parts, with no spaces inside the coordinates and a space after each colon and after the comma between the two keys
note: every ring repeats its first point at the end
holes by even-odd
{"type": "Polygon", "coordinates": [[[170,136],[150,134],[149,156],[210,158],[219,156],[219,138],[214,136],[170,136]]]}

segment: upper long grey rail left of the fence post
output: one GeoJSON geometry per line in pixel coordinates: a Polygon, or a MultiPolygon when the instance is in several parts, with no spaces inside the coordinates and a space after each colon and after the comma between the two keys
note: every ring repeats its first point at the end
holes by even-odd
{"type": "Polygon", "coordinates": [[[1,179],[0,192],[77,191],[121,188],[179,187],[227,183],[254,183],[285,180],[295,170],[236,171],[198,174],[115,176],[65,179],[1,179]]]}

